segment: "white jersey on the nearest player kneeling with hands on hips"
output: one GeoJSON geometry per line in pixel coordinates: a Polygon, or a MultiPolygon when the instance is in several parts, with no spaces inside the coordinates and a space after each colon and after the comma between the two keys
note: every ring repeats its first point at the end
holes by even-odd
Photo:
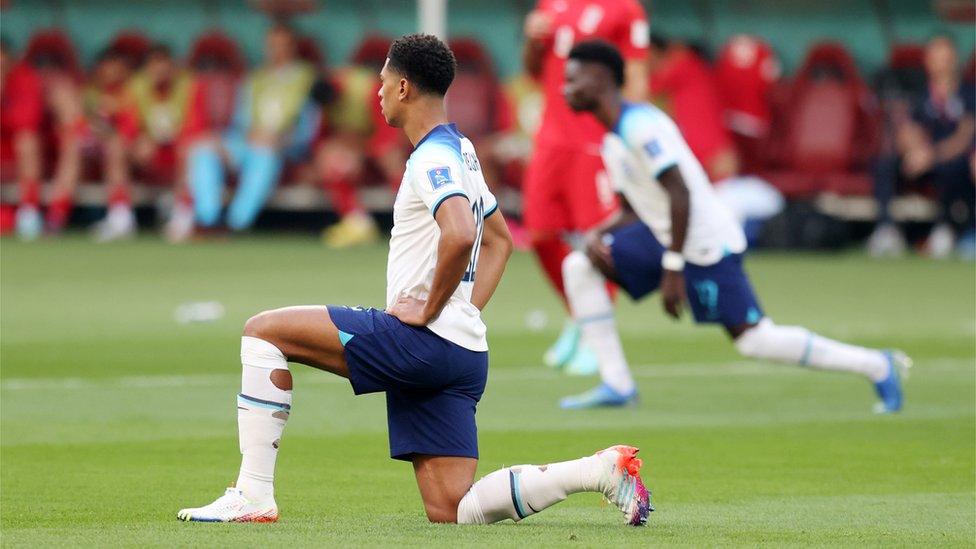
{"type": "Polygon", "coordinates": [[[481,311],[471,304],[484,221],[498,209],[468,138],[454,124],[437,126],[417,143],[393,204],[393,231],[386,265],[386,306],[401,293],[427,299],[437,266],[440,227],[434,216],[444,200],[463,196],[471,206],[477,237],[461,283],[428,328],[472,351],[487,351],[481,311]]]}

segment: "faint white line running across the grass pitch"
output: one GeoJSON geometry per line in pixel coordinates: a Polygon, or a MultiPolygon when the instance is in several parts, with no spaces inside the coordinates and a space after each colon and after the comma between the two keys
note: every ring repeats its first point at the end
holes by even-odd
{"type": "MultiPolygon", "coordinates": [[[[976,365],[976,358],[939,358],[926,360],[913,368],[916,375],[945,372],[960,366],[976,365]]],[[[698,378],[698,377],[748,377],[771,375],[794,375],[807,368],[777,365],[767,362],[684,362],[642,364],[633,366],[631,371],[636,378],[698,378]]],[[[562,378],[558,372],[543,366],[525,368],[502,368],[489,370],[488,381],[495,383],[519,383],[524,381],[545,381],[562,378]]],[[[0,384],[4,391],[78,391],[97,389],[165,389],[176,387],[224,387],[238,383],[240,376],[232,374],[198,374],[171,376],[122,376],[111,378],[11,378],[0,384]]],[[[340,377],[321,375],[302,375],[304,385],[334,385],[346,381],[340,377]]]]}

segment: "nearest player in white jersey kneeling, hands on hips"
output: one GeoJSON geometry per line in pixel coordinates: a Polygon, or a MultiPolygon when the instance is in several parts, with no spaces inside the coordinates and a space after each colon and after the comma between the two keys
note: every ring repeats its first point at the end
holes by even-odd
{"type": "MultiPolygon", "coordinates": [[[[241,339],[236,485],[181,520],[274,522],[274,468],[291,414],[298,362],[385,392],[390,455],[413,464],[432,522],[521,520],[575,492],[600,492],[642,525],[650,496],[632,446],[547,466],[520,465],[478,482],[475,409],[488,376],[481,309],[512,251],[471,142],[447,122],[453,53],[434,36],[396,40],[380,73],[387,122],[414,145],[393,206],[386,310],[310,306],[252,317],[241,339]]],[[[337,451],[339,451],[337,449],[337,451]]]]}

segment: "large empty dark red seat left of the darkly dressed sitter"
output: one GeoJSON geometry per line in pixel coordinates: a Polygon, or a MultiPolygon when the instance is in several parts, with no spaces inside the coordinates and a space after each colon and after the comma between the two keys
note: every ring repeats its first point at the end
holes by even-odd
{"type": "Polygon", "coordinates": [[[779,144],[779,168],[763,175],[790,197],[870,194],[866,167],[878,142],[875,99],[847,50],[837,43],[815,45],[778,92],[772,143],[779,144]]]}

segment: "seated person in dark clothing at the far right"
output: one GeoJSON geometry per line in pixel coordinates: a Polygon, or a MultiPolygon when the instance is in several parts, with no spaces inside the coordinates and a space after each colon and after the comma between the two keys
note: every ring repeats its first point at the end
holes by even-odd
{"type": "Polygon", "coordinates": [[[930,182],[939,201],[938,219],[926,246],[928,254],[947,257],[960,232],[970,241],[972,238],[976,196],[973,86],[962,81],[955,44],[945,36],[928,42],[925,71],[927,92],[896,129],[896,154],[878,161],[875,196],[879,220],[868,240],[872,255],[904,250],[904,237],[891,219],[889,206],[897,189],[917,181],[930,182]]]}

